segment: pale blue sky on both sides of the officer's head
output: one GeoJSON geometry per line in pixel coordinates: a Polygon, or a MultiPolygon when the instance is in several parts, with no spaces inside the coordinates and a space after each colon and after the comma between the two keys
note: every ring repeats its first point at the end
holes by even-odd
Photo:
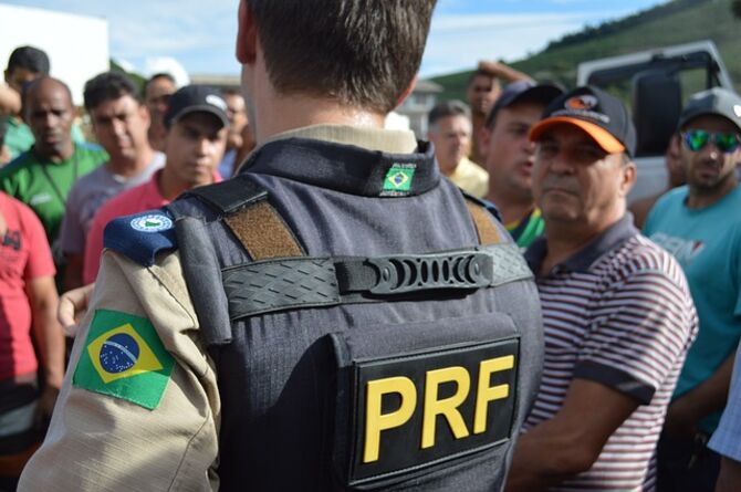
{"type": "MultiPolygon", "coordinates": [[[[111,56],[147,75],[158,57],[190,74],[236,75],[238,0],[0,0],[104,18],[111,56]]],[[[584,25],[618,19],[661,0],[439,0],[422,77],[470,70],[482,59],[512,62],[584,25]]],[[[286,27],[288,28],[288,27],[286,27]]]]}

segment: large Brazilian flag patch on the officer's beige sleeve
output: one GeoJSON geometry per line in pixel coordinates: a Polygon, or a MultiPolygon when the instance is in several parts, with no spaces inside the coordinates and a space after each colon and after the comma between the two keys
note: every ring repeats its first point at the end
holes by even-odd
{"type": "Polygon", "coordinates": [[[72,384],[154,410],[174,366],[149,320],[97,310],[72,384]]]}

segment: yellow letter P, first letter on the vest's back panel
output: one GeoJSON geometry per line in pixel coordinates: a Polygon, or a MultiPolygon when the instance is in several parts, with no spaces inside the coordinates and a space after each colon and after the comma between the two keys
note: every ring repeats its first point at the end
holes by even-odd
{"type": "Polygon", "coordinates": [[[368,381],[365,408],[364,463],[378,460],[380,432],[404,425],[411,418],[416,407],[417,389],[411,379],[399,376],[368,381]],[[401,405],[398,410],[384,415],[382,414],[384,395],[393,392],[401,397],[401,405]]]}

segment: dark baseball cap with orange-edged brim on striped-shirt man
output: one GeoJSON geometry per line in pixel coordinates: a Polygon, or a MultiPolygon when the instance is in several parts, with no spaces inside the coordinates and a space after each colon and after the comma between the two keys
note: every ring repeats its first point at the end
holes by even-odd
{"type": "Polygon", "coordinates": [[[549,128],[570,124],[586,132],[607,153],[636,151],[636,128],[628,109],[617,97],[593,86],[576,87],[553,101],[531,130],[535,142],[549,128]]]}

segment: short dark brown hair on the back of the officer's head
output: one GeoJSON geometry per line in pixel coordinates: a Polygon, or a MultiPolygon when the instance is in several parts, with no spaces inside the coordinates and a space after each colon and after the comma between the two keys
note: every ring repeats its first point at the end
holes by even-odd
{"type": "Polygon", "coordinates": [[[435,3],[250,0],[248,9],[279,92],[386,114],[419,70],[435,3]]]}

